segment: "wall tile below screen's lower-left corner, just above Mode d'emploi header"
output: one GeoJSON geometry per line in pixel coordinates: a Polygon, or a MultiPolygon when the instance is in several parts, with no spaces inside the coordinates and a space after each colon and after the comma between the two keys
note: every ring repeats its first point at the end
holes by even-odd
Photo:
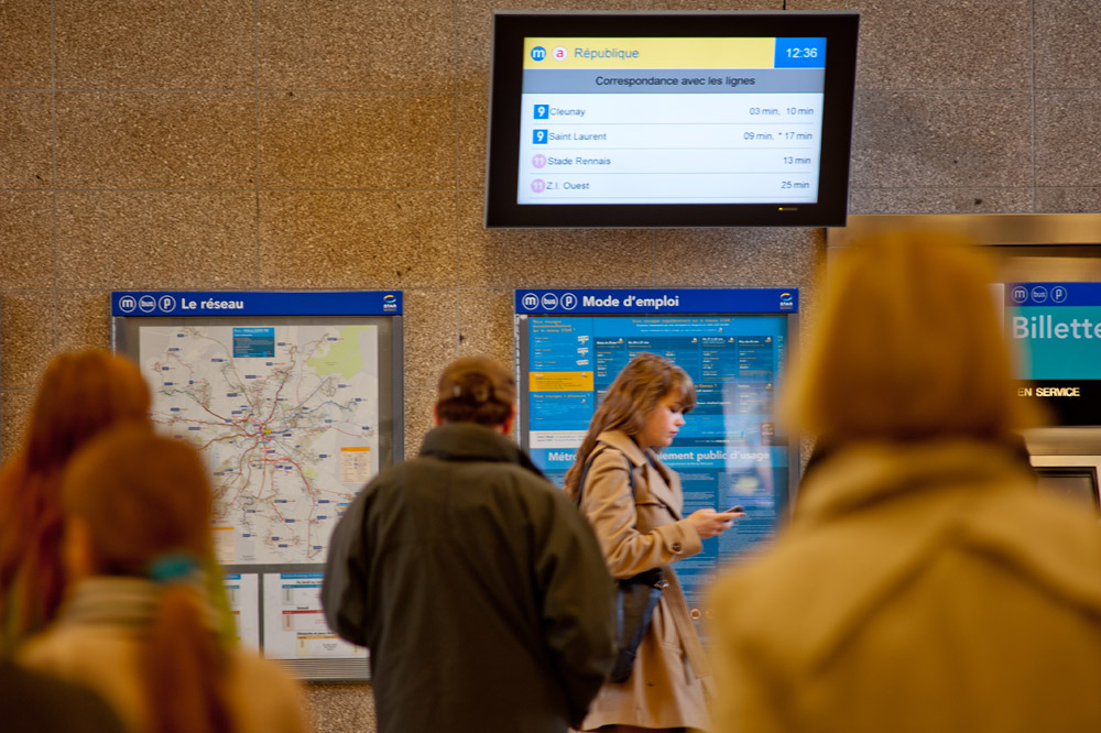
{"type": "Polygon", "coordinates": [[[481,193],[459,194],[461,287],[621,287],[653,283],[645,229],[486,229],[481,193]]]}

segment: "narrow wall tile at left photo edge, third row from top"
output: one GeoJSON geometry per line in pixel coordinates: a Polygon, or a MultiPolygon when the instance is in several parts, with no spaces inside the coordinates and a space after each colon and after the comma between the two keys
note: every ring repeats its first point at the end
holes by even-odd
{"type": "Polygon", "coordinates": [[[54,196],[0,192],[0,289],[54,286],[54,196]]]}

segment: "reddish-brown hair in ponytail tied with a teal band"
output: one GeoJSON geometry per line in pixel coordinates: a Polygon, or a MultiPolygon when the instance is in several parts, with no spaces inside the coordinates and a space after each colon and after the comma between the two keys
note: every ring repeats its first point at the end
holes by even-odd
{"type": "Polygon", "coordinates": [[[87,530],[94,572],[163,586],[139,678],[153,733],[229,733],[228,657],[203,602],[214,499],[198,453],[143,426],[90,441],[62,479],[66,519],[87,530]]]}

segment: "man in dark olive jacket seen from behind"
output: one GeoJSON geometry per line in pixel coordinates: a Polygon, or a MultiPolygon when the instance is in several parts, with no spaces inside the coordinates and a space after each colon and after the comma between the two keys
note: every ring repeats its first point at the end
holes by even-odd
{"type": "Polygon", "coordinates": [[[439,379],[421,455],[333,535],[321,602],[370,649],[380,733],[566,733],[614,659],[592,530],[510,437],[516,385],[480,357],[439,379]]]}

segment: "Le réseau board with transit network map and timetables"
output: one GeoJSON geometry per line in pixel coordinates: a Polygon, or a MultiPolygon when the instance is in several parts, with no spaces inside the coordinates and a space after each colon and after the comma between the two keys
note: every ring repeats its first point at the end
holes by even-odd
{"type": "Polygon", "coordinates": [[[159,431],[195,446],[243,644],[306,679],[363,679],[320,613],[329,537],[402,455],[401,293],[115,293],[116,349],[159,431]]]}

